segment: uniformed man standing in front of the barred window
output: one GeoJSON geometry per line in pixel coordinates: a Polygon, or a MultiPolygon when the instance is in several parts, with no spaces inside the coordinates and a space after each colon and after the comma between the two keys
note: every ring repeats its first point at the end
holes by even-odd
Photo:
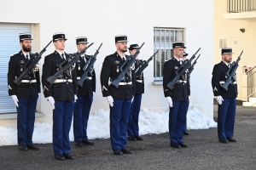
{"type": "Polygon", "coordinates": [[[183,131],[186,126],[186,115],[189,109],[189,83],[187,82],[187,72],[179,77],[179,82],[174,88],[167,88],[167,84],[176,77],[177,69],[183,63],[183,42],[172,43],[174,57],[165,62],[163,69],[163,88],[165,97],[170,106],[169,112],[169,133],[171,147],[188,147],[183,144],[183,131]]]}

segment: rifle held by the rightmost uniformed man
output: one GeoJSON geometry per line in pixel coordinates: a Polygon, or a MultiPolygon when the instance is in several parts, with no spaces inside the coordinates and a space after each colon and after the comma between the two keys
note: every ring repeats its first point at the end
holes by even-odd
{"type": "MultiPolygon", "coordinates": [[[[241,54],[243,53],[243,50],[241,51],[241,54]]],[[[231,65],[230,65],[230,69],[229,71],[227,72],[227,79],[226,81],[224,82],[223,85],[220,84],[220,86],[222,88],[224,88],[226,91],[228,91],[228,88],[229,88],[229,85],[232,84],[232,78],[233,80],[236,80],[236,78],[234,77],[235,76],[235,73],[236,73],[236,69],[238,68],[238,63],[241,59],[241,54],[239,55],[239,57],[236,59],[236,61],[234,61],[231,65]]]]}

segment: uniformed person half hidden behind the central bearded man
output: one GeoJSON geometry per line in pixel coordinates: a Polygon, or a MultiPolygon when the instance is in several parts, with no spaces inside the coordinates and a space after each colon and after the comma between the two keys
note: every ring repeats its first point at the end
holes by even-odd
{"type": "MultiPolygon", "coordinates": [[[[131,44],[129,48],[130,54],[135,54],[139,46],[137,44],[131,44]]],[[[137,59],[135,61],[135,71],[138,69],[138,66],[143,63],[143,59],[137,59]]],[[[136,88],[135,88],[135,95],[131,104],[131,113],[128,122],[128,139],[129,140],[143,140],[142,137],[139,136],[139,127],[138,127],[138,119],[139,113],[141,111],[141,103],[142,97],[144,94],[144,77],[143,72],[136,76],[136,88]]]]}

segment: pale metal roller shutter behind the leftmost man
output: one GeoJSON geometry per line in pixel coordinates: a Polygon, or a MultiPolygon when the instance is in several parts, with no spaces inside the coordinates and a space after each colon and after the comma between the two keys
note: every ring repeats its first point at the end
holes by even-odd
{"type": "Polygon", "coordinates": [[[7,73],[10,55],[20,51],[19,34],[22,32],[32,32],[32,25],[0,23],[0,114],[16,112],[8,94],[7,73]]]}

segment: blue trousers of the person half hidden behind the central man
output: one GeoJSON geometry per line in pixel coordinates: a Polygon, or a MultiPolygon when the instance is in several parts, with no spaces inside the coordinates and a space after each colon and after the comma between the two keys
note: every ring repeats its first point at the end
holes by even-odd
{"type": "Polygon", "coordinates": [[[143,94],[135,94],[131,104],[131,113],[128,122],[128,136],[139,136],[138,119],[141,110],[143,94]]]}

